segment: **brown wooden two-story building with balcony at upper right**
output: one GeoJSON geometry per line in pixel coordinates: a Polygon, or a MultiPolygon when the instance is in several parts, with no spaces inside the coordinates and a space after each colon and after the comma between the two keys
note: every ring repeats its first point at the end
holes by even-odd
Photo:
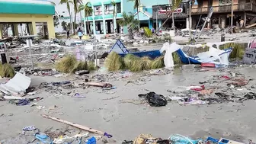
{"type": "Polygon", "coordinates": [[[211,7],[213,7],[213,16],[207,25],[209,28],[213,24],[219,25],[220,28],[230,26],[232,9],[234,26],[238,26],[241,20],[244,21],[244,25],[256,22],[256,0],[197,0],[197,2],[198,5],[193,5],[191,8],[192,28],[197,25],[200,15],[202,18],[206,17],[211,7]]]}

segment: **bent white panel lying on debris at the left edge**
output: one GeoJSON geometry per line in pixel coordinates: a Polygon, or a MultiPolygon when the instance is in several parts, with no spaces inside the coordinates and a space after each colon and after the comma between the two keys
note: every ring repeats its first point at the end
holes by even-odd
{"type": "Polygon", "coordinates": [[[30,86],[31,78],[16,72],[14,78],[11,78],[6,84],[0,85],[0,91],[5,94],[20,94],[25,93],[30,86]]]}

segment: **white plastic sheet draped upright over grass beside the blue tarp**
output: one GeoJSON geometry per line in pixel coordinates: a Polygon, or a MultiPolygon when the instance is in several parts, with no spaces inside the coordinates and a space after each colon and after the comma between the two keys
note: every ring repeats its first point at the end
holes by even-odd
{"type": "Polygon", "coordinates": [[[176,52],[177,50],[181,49],[182,46],[178,45],[176,42],[174,43],[164,43],[160,53],[163,53],[165,51],[165,67],[170,68],[170,67],[174,67],[174,61],[173,61],[173,57],[172,57],[172,53],[176,52]]]}

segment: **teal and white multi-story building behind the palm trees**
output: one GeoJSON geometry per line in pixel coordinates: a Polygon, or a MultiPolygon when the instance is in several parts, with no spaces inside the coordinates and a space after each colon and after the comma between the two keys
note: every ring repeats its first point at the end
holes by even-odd
{"type": "MultiPolygon", "coordinates": [[[[123,12],[131,12],[135,15],[135,18],[137,18],[137,11],[133,9],[134,3],[127,2],[126,0],[114,1],[117,3],[117,17],[114,19],[113,27],[114,7],[111,5],[112,0],[91,0],[91,8],[93,12],[90,17],[84,18],[85,34],[88,34],[89,31],[91,34],[113,34],[114,30],[117,33],[127,33],[127,27],[120,27],[120,25],[117,24],[117,21],[123,18],[123,12]]],[[[141,0],[141,6],[139,8],[140,26],[151,28],[153,26],[152,5],[164,4],[168,4],[168,0],[141,0]]]]}

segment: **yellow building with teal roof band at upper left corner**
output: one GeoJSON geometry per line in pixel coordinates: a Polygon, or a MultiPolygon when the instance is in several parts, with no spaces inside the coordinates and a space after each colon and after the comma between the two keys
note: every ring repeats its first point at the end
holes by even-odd
{"type": "Polygon", "coordinates": [[[55,7],[50,2],[34,0],[0,0],[0,39],[8,37],[7,27],[18,36],[18,25],[23,25],[29,35],[55,38],[53,15],[55,7]]]}

